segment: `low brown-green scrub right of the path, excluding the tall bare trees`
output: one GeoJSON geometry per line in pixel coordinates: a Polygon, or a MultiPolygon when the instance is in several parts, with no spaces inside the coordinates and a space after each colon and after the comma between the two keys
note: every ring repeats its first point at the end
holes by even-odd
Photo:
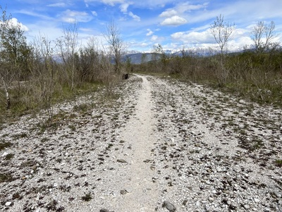
{"type": "Polygon", "coordinates": [[[203,83],[241,95],[259,103],[282,104],[282,52],[241,53],[199,57],[188,52],[183,57],[166,58],[135,65],[134,70],[166,73],[193,83],[203,83]]]}

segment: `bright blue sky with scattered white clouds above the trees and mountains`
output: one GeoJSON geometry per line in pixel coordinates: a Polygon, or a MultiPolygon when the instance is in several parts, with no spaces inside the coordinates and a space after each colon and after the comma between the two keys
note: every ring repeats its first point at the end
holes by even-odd
{"type": "Polygon", "coordinates": [[[273,20],[276,41],[282,42],[281,0],[0,0],[0,5],[20,23],[28,42],[39,36],[55,41],[75,22],[80,46],[91,37],[104,43],[112,21],[127,51],[152,52],[157,44],[173,52],[216,48],[209,29],[220,15],[235,25],[228,49],[252,45],[258,21],[273,20]]]}

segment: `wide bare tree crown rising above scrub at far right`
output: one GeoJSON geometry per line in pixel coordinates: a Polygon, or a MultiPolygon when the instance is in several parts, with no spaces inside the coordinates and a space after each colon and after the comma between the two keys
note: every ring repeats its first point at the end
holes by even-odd
{"type": "Polygon", "coordinates": [[[252,28],[251,38],[256,52],[276,49],[278,43],[273,42],[276,38],[274,21],[271,21],[269,25],[266,25],[264,21],[257,22],[257,25],[252,28]]]}

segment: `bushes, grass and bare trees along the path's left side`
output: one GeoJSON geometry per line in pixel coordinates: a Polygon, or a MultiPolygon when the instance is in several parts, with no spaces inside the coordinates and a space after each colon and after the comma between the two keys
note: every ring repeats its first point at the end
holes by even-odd
{"type": "Polygon", "coordinates": [[[41,109],[51,122],[52,105],[99,88],[111,93],[121,78],[123,40],[114,22],[104,35],[109,47],[93,37],[80,47],[77,23],[64,25],[56,40],[39,33],[27,43],[20,23],[15,25],[6,9],[0,9],[0,124],[41,109]]]}

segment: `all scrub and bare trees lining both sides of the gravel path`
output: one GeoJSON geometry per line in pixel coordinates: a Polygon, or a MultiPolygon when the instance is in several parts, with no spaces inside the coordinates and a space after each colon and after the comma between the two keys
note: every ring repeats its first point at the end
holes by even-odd
{"type": "Polygon", "coordinates": [[[51,119],[54,103],[101,86],[111,88],[121,79],[122,73],[131,71],[170,74],[185,81],[238,93],[257,102],[281,106],[282,51],[280,45],[273,42],[274,23],[257,23],[252,31],[254,49],[231,54],[226,43],[233,30],[234,25],[224,23],[223,16],[217,17],[211,26],[211,33],[221,50],[219,54],[200,57],[197,52],[183,49],[182,55],[171,57],[159,45],[150,61],[144,54],[142,63],[133,65],[130,60],[121,62],[124,45],[114,23],[108,25],[104,35],[109,49],[99,47],[94,39],[90,39],[86,47],[78,47],[78,25],[75,23],[64,27],[63,36],[55,41],[39,34],[28,44],[20,25],[12,25],[11,16],[2,9],[1,114],[23,114],[44,108],[51,119]]]}

